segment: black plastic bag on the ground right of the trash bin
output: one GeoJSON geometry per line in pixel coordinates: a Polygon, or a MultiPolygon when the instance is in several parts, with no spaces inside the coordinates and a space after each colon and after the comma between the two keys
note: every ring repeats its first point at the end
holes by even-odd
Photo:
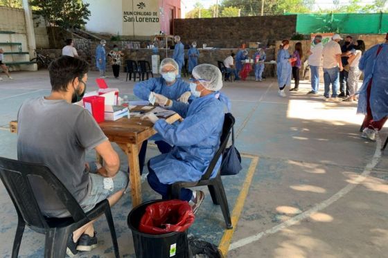
{"type": "Polygon", "coordinates": [[[188,246],[190,247],[193,258],[224,258],[220,249],[213,243],[209,243],[198,239],[197,237],[188,238],[188,246]]]}

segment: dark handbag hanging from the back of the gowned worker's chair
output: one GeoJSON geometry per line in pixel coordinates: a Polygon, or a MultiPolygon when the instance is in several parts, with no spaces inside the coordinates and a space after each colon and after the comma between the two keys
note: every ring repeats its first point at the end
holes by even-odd
{"type": "Polygon", "coordinates": [[[241,166],[240,152],[234,146],[234,127],[231,129],[231,146],[225,149],[222,156],[221,176],[232,176],[238,174],[243,167],[241,166]]]}

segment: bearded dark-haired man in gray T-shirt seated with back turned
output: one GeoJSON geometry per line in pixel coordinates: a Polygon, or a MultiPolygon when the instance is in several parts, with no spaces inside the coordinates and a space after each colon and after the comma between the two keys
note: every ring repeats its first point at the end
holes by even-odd
{"type": "MultiPolygon", "coordinates": [[[[109,140],[89,111],[71,104],[82,100],[89,65],[82,59],[63,56],[48,68],[51,94],[26,100],[18,114],[17,158],[47,165],[67,187],[81,208],[88,212],[107,199],[114,205],[128,183],[127,173],[118,170],[120,160],[109,140]],[[96,149],[104,166],[87,165],[85,154],[96,149]]],[[[32,184],[46,216],[70,216],[53,190],[44,184],[32,184]]],[[[67,254],[89,251],[97,246],[93,222],[69,236],[67,254]]]]}

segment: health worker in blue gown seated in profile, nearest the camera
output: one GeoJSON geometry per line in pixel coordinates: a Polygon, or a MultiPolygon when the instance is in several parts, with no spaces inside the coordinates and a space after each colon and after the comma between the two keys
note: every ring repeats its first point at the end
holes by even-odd
{"type": "MultiPolygon", "coordinates": [[[[171,184],[200,180],[220,146],[224,104],[227,104],[223,102],[225,98],[219,98],[218,91],[222,88],[220,69],[212,64],[195,66],[192,81],[191,93],[197,98],[191,104],[166,101],[166,106],[184,118],[182,122],[170,125],[152,112],[143,116],[154,122],[154,129],[174,146],[168,154],[151,158],[148,163],[148,183],[163,199],[168,198],[171,184]]],[[[221,158],[212,176],[217,174],[220,165],[221,158]]],[[[193,212],[197,212],[204,192],[182,189],[181,198],[189,202],[193,212]]]]}

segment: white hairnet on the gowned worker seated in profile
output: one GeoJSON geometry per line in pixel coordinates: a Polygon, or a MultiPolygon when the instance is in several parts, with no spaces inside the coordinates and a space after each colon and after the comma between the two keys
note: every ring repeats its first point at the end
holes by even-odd
{"type": "Polygon", "coordinates": [[[220,91],[222,88],[222,74],[220,69],[213,64],[200,64],[193,68],[192,75],[195,79],[202,79],[200,83],[209,91],[220,91]]]}

